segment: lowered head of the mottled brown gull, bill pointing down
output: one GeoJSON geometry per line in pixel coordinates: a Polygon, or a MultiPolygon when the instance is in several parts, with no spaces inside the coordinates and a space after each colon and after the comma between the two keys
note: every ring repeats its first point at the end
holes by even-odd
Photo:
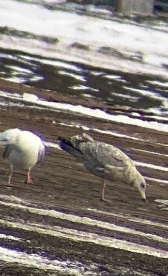
{"type": "Polygon", "coordinates": [[[146,195],[145,195],[146,181],[138,171],[136,173],[134,181],[132,182],[132,185],[134,186],[135,189],[137,189],[142,200],[145,202],[145,200],[146,200],[146,195]]]}

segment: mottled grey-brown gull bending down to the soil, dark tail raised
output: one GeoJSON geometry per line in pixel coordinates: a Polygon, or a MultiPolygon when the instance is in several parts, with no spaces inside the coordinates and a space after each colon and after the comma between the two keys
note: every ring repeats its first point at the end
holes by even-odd
{"type": "Polygon", "coordinates": [[[59,137],[61,149],[70,153],[78,162],[92,174],[103,179],[101,199],[111,202],[104,197],[106,179],[121,184],[130,184],[139,192],[143,201],[146,199],[146,182],[137,171],[134,162],[115,146],[94,141],[91,136],[72,136],[70,139],[59,137]]]}

